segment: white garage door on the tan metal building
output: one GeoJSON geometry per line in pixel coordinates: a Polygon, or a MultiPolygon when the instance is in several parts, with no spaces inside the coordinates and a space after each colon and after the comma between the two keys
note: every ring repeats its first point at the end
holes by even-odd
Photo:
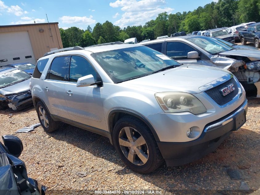
{"type": "Polygon", "coordinates": [[[28,32],[0,33],[0,66],[23,62],[36,64],[28,32]]]}

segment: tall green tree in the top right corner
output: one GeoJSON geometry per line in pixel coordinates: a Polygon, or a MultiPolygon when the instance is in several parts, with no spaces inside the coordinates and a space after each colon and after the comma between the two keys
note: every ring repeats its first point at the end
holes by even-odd
{"type": "Polygon", "coordinates": [[[238,2],[239,19],[241,22],[260,21],[260,1],[240,0],[238,2]]]}

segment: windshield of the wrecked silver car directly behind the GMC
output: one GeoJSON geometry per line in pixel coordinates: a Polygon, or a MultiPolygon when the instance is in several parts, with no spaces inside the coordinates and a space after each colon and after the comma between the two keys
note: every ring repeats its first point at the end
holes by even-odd
{"type": "Polygon", "coordinates": [[[234,49],[233,47],[228,46],[225,43],[222,43],[210,37],[192,37],[187,38],[186,40],[190,41],[191,43],[194,43],[198,47],[209,52],[210,54],[218,54],[234,49]]]}

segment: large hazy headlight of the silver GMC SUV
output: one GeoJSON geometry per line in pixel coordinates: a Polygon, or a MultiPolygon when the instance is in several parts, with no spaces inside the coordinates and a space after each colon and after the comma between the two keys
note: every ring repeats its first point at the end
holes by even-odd
{"type": "Polygon", "coordinates": [[[155,98],[166,113],[191,112],[196,115],[207,111],[201,101],[189,93],[160,92],[155,98]]]}

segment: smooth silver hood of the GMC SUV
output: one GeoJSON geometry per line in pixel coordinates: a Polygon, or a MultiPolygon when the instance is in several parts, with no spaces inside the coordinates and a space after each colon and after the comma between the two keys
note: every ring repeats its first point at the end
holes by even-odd
{"type": "Polygon", "coordinates": [[[220,68],[185,64],[180,67],[120,83],[123,86],[139,87],[154,92],[181,91],[200,93],[199,87],[210,83],[229,71],[220,68]]]}

